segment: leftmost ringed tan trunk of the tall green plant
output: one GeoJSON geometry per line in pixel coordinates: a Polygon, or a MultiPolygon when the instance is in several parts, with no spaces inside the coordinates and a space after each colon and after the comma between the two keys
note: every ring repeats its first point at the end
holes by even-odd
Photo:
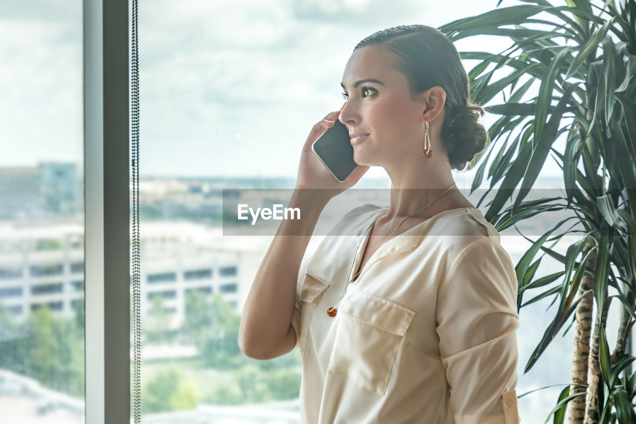
{"type": "MultiPolygon", "coordinates": [[[[590,241],[587,246],[588,248],[593,247],[593,241],[590,241]]],[[[585,254],[586,253],[583,253],[583,257],[585,254]]],[[[592,269],[595,268],[596,258],[597,253],[593,251],[586,265],[592,269]]],[[[587,290],[591,290],[593,282],[593,279],[584,274],[581,285],[579,286],[579,295],[587,290]]],[[[569,395],[579,392],[581,395],[571,399],[568,403],[568,422],[570,424],[582,423],[585,416],[586,388],[574,385],[586,385],[588,383],[588,357],[590,355],[593,302],[594,293],[587,293],[579,303],[575,312],[576,322],[574,323],[574,348],[572,354],[572,386],[570,386],[569,395]]]]}

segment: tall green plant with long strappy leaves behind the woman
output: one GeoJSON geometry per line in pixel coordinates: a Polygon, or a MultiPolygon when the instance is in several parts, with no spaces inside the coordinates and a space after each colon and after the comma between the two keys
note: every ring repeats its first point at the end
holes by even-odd
{"type": "Polygon", "coordinates": [[[479,34],[512,41],[499,54],[460,52],[462,59],[478,61],[469,71],[471,100],[501,115],[488,129],[490,147],[469,164],[478,166],[473,190],[494,153],[490,188],[481,201],[501,182],[485,214],[497,230],[563,209],[584,228],[583,238],[561,255],[546,246],[569,232],[556,234],[567,220],[559,222],[531,240],[516,265],[518,308],[550,295],[558,301],[525,372],[568,320],[574,326],[572,379],[546,422],[554,416],[563,423],[567,414],[570,423],[634,423],[635,357],[626,343],[636,322],[636,0],[565,0],[563,6],[522,1],[499,8],[500,1],[495,10],[439,27],[452,41],[479,34]],[[537,95],[524,99],[531,87],[537,95]],[[493,104],[502,92],[504,101],[493,104]],[[553,147],[560,138],[563,152],[553,147]],[[530,201],[548,155],[563,171],[567,195],[530,201]],[[563,271],[534,278],[539,253],[561,262],[563,271]],[[609,296],[609,286],[618,294],[609,296]],[[524,304],[532,288],[546,291],[524,304]],[[605,333],[612,300],[622,311],[616,346],[609,346],[605,333]]]}

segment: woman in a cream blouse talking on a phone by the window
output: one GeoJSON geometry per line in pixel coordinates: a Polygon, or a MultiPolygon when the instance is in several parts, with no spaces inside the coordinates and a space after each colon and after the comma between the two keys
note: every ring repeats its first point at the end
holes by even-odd
{"type": "Polygon", "coordinates": [[[310,236],[274,237],[242,351],[300,348],[303,423],[518,423],[515,268],[451,173],[488,143],[459,53],[431,27],[393,27],[356,46],[342,86],[347,102],[303,147],[289,202],[303,219],[276,236],[312,234],[372,165],[389,174],[391,203],[352,209],[330,234],[356,239],[325,237],[311,257],[310,236]],[[359,164],[343,183],[311,150],[336,119],[359,164]]]}

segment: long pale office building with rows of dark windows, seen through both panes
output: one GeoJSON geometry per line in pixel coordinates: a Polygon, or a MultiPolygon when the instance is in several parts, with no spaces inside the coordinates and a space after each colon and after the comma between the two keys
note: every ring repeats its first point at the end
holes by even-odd
{"type": "MultiPolygon", "coordinates": [[[[142,226],[142,316],[159,297],[165,312],[174,313],[173,324],[179,325],[189,292],[219,293],[240,313],[271,237],[224,237],[218,227],[190,222],[142,226]]],[[[3,222],[0,305],[18,319],[43,305],[73,316],[84,297],[83,231],[78,222],[3,222]]],[[[134,277],[131,274],[131,285],[134,277]]]]}

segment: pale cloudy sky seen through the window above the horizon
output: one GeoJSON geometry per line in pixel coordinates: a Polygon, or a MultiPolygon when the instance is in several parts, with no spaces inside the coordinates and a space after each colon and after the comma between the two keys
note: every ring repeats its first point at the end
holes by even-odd
{"type": "MultiPolygon", "coordinates": [[[[295,177],[311,127],[343,104],[340,81],[361,39],[401,24],[439,27],[497,1],[140,0],[140,174],[295,177]]],[[[455,43],[460,52],[510,45],[455,43]]],[[[0,63],[0,166],[81,161],[81,1],[1,1],[0,63]]],[[[474,171],[453,172],[459,187],[473,180],[474,171]]],[[[561,171],[550,159],[543,174],[561,171]]],[[[363,178],[383,176],[374,166],[363,178]]]]}

